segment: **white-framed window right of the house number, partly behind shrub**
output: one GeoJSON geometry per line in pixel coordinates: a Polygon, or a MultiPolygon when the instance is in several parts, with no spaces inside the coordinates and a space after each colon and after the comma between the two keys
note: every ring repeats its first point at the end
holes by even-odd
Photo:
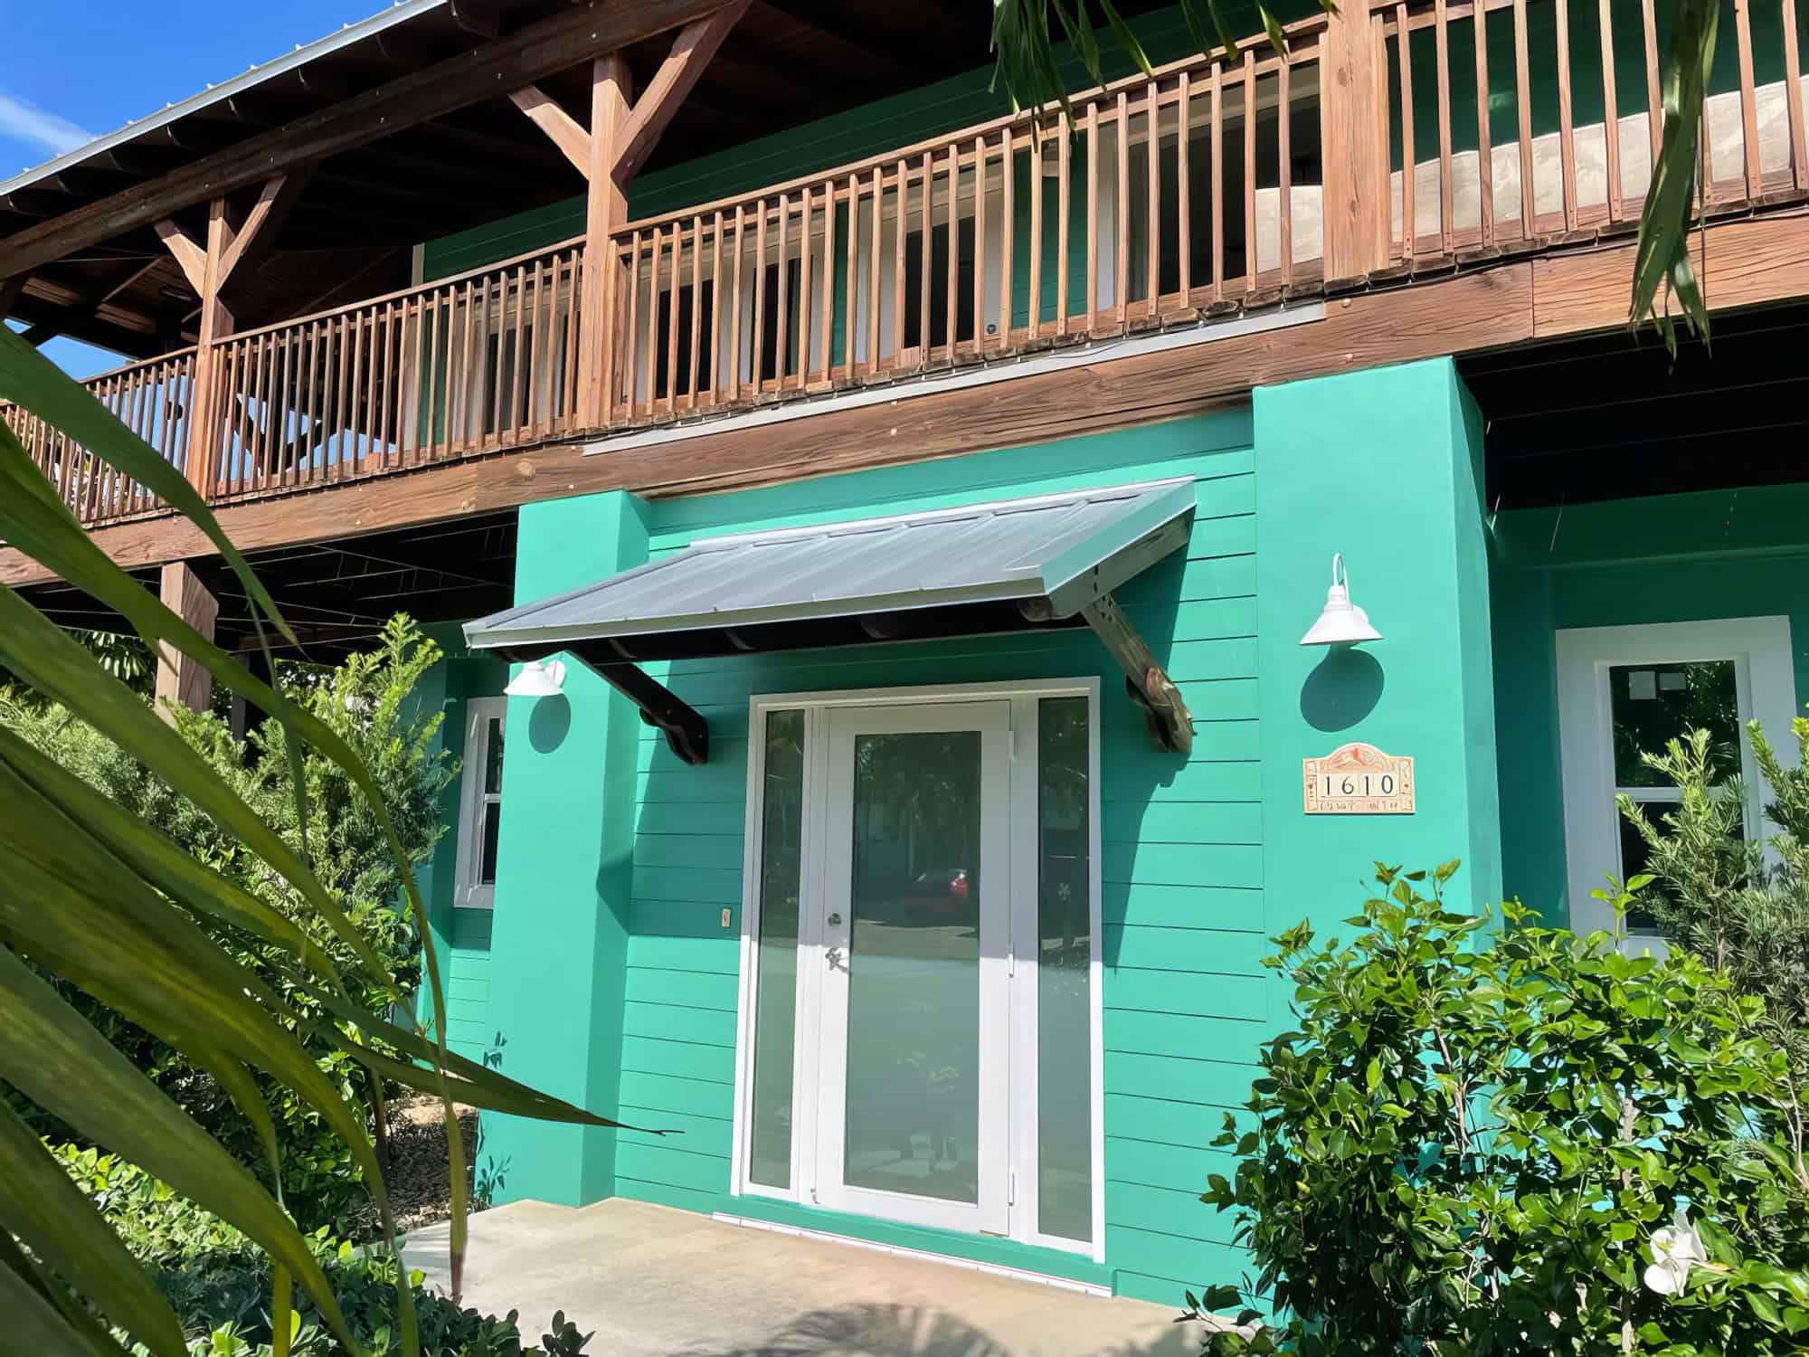
{"type": "MultiPolygon", "coordinates": [[[[1679,792],[1646,767],[1643,753],[1688,729],[1708,729],[1717,767],[1746,787],[1746,834],[1764,834],[1769,789],[1753,762],[1746,722],[1766,727],[1778,758],[1795,764],[1796,711],[1787,617],[1711,622],[1594,626],[1558,633],[1558,729],[1565,780],[1565,852],[1570,925],[1586,934],[1614,925],[1592,896],[1606,876],[1626,881],[1644,868],[1644,843],[1615,809],[1624,792],[1655,823],[1679,792]]],[[[1650,917],[1634,914],[1628,950],[1657,950],[1650,917]],[[1643,935],[1643,937],[1641,937],[1643,935]]]]}

